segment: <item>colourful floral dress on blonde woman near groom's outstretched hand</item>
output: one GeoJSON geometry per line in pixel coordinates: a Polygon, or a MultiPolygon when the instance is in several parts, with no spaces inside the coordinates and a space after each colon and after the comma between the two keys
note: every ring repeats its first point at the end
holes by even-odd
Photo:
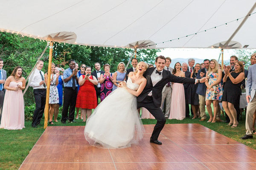
{"type": "MultiPolygon", "coordinates": [[[[211,85],[218,79],[218,72],[217,73],[210,73],[209,75],[209,81],[208,84],[211,85]]],[[[223,88],[221,86],[221,82],[218,83],[218,85],[212,86],[213,91],[210,89],[206,89],[206,94],[205,94],[205,100],[219,100],[221,101],[222,94],[223,94],[223,88]]]]}

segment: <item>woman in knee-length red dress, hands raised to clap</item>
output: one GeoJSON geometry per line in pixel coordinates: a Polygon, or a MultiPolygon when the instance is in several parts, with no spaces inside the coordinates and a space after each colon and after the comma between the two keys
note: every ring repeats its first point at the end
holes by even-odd
{"type": "Polygon", "coordinates": [[[80,85],[77,98],[76,98],[76,108],[81,108],[81,114],[83,116],[83,122],[86,122],[87,119],[92,113],[92,109],[97,107],[97,97],[94,85],[98,85],[98,80],[96,77],[90,75],[91,68],[85,68],[85,74],[81,75],[78,80],[80,85]]]}

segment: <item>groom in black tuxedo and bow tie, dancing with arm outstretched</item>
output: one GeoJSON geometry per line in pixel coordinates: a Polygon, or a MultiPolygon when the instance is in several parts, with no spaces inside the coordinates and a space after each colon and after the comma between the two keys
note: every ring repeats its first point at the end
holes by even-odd
{"type": "MultiPolygon", "coordinates": [[[[166,119],[160,108],[162,99],[162,90],[167,82],[178,83],[198,83],[199,79],[190,79],[186,77],[177,77],[171,74],[170,71],[164,70],[166,58],[158,56],[155,61],[155,68],[148,68],[143,76],[147,79],[147,84],[142,93],[137,97],[137,108],[144,107],[157,119],[157,124],[154,127],[150,142],[154,144],[162,144],[158,136],[163,129],[166,119]]],[[[200,79],[204,82],[206,77],[200,79]]]]}

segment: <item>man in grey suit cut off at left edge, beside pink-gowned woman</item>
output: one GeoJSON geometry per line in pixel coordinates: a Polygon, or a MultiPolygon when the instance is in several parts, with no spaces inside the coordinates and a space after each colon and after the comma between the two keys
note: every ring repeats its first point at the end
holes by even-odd
{"type": "Polygon", "coordinates": [[[6,71],[3,70],[3,59],[0,58],[0,122],[2,117],[2,110],[3,110],[3,99],[4,99],[4,83],[6,80],[6,71]]]}

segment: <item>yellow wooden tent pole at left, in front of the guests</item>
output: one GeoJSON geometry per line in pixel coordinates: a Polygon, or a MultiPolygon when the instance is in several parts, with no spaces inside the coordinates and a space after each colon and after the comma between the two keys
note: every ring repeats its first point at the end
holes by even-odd
{"type": "Polygon", "coordinates": [[[47,76],[47,91],[46,91],[46,101],[45,101],[45,108],[44,108],[44,129],[47,127],[48,123],[48,114],[49,114],[49,94],[50,94],[50,82],[51,82],[51,69],[52,69],[52,48],[53,42],[50,42],[49,46],[49,62],[48,62],[48,76],[47,76]]]}

